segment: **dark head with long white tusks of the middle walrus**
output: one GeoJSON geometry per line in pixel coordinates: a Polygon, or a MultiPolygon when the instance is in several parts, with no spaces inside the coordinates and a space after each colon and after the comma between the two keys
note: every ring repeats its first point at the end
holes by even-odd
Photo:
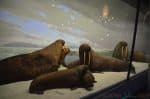
{"type": "Polygon", "coordinates": [[[83,65],[89,65],[91,62],[92,49],[88,44],[82,44],[79,47],[80,63],[83,65]]]}

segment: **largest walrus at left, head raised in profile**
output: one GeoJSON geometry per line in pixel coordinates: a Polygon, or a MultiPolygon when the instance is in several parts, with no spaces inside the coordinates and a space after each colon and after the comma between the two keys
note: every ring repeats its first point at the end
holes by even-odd
{"type": "Polygon", "coordinates": [[[0,60],[0,85],[33,79],[43,73],[57,71],[69,53],[64,40],[56,40],[32,53],[0,60]]]}

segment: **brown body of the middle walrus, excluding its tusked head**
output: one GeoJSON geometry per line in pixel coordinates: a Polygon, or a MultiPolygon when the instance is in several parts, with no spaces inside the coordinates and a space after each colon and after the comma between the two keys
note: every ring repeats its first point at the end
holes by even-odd
{"type": "Polygon", "coordinates": [[[121,72],[128,70],[128,63],[109,56],[95,55],[89,67],[92,71],[121,72]]]}

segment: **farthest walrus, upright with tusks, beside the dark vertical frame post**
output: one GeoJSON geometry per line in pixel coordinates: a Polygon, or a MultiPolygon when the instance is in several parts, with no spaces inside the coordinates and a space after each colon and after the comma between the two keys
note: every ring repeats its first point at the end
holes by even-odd
{"type": "Polygon", "coordinates": [[[120,41],[114,48],[112,57],[115,57],[123,61],[128,61],[129,60],[128,43],[125,41],[120,41]]]}

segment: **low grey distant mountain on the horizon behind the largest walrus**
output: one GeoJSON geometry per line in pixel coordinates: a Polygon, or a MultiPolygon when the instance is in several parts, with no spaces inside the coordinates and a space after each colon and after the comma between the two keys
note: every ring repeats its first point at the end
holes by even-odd
{"type": "Polygon", "coordinates": [[[2,45],[3,47],[31,47],[31,48],[42,48],[42,45],[36,45],[31,43],[24,43],[24,42],[14,42],[14,43],[7,43],[2,45]]]}

